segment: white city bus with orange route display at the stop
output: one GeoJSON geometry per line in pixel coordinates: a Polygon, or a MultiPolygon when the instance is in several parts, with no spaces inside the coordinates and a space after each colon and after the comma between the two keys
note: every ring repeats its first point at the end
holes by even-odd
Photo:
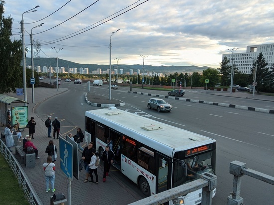
{"type": "MultiPolygon", "coordinates": [[[[108,137],[113,141],[113,166],[146,196],[199,179],[204,172],[215,174],[216,141],[212,138],[115,107],[86,111],[86,142],[94,142],[102,155],[108,137]]],[[[201,193],[202,189],[191,192],[169,204],[200,204],[201,193]]]]}

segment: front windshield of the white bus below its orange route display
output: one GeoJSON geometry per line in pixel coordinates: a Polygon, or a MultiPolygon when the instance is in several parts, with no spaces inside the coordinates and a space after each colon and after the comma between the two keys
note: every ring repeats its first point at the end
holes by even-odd
{"type": "Polygon", "coordinates": [[[199,179],[199,175],[204,172],[215,174],[215,151],[198,154],[181,160],[174,159],[173,187],[199,179]]]}

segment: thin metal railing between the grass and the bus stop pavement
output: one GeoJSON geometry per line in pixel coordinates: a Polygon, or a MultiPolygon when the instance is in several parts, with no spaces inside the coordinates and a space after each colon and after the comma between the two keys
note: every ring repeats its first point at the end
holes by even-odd
{"type": "Polygon", "coordinates": [[[43,205],[30,180],[28,179],[25,171],[23,170],[15,156],[9,151],[2,139],[0,139],[0,152],[9,164],[14,175],[16,176],[19,186],[22,187],[25,193],[25,197],[30,205],[43,205]]]}

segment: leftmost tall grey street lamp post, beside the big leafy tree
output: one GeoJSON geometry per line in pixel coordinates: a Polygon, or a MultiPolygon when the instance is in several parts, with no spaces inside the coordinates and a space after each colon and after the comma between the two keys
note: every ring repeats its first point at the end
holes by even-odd
{"type": "MultiPolygon", "coordinates": [[[[37,5],[35,8],[40,7],[37,5]]],[[[28,12],[36,12],[37,10],[33,10],[35,8],[32,8],[26,12],[23,12],[22,14],[22,20],[21,20],[21,32],[22,32],[22,51],[23,51],[23,56],[22,56],[22,61],[23,61],[23,84],[24,84],[24,101],[27,102],[27,91],[26,91],[26,56],[25,56],[25,40],[24,40],[24,14],[28,12]]],[[[26,105],[26,103],[25,103],[26,105]]]]}

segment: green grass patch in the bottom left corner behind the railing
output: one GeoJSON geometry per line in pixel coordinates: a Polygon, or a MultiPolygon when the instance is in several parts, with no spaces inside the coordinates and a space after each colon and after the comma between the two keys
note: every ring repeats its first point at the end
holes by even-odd
{"type": "Polygon", "coordinates": [[[14,176],[3,155],[0,154],[0,204],[1,205],[29,205],[24,197],[24,192],[19,187],[18,180],[14,176]]]}

